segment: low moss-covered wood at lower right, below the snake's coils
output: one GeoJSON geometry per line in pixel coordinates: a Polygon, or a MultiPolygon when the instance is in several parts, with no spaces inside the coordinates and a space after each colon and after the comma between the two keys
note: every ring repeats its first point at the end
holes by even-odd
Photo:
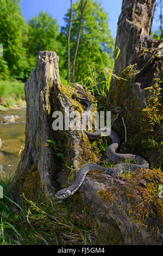
{"type": "Polygon", "coordinates": [[[154,191],[149,189],[154,184],[158,187],[162,178],[163,174],[158,170],[138,169],[129,179],[95,173],[93,178],[90,175],[83,182],[82,198],[99,220],[117,224],[125,245],[162,245],[161,199],[157,193],[152,199],[154,191]],[[148,183],[149,177],[152,184],[148,183]]]}

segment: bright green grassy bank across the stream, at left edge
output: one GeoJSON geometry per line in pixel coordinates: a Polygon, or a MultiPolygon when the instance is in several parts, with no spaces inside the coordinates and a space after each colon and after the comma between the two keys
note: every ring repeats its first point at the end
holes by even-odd
{"type": "Polygon", "coordinates": [[[10,108],[24,104],[24,83],[0,80],[0,105],[10,108]]]}

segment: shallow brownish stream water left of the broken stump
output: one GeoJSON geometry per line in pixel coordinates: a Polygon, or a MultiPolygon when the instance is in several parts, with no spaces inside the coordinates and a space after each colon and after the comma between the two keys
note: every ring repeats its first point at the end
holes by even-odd
{"type": "Polygon", "coordinates": [[[0,138],[2,139],[0,174],[2,179],[15,172],[21,159],[21,151],[25,142],[26,108],[1,111],[0,119],[7,115],[14,115],[16,121],[15,123],[0,122],[0,138]]]}

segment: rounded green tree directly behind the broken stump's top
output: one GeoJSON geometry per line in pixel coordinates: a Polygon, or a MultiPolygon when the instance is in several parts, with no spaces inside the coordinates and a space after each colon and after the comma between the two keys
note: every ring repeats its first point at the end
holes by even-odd
{"type": "Polygon", "coordinates": [[[62,69],[65,63],[65,42],[62,42],[59,25],[52,15],[41,11],[38,16],[29,20],[29,58],[36,64],[36,58],[39,51],[55,51],[60,58],[61,77],[65,77],[67,67],[62,69]]]}

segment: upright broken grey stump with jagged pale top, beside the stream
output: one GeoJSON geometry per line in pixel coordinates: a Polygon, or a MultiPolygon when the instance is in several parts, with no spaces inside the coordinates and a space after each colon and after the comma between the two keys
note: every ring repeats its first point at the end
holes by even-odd
{"type": "MultiPolygon", "coordinates": [[[[58,64],[59,57],[55,52],[39,52],[36,69],[33,70],[24,86],[27,102],[26,142],[21,162],[12,182],[12,190],[17,196],[23,192],[24,182],[27,187],[27,175],[31,169],[32,171],[35,169],[34,167],[38,169],[38,178],[47,193],[52,194],[53,187],[57,184],[56,176],[61,164],[56,163],[57,156],[54,155],[53,147],[46,147],[45,144],[47,139],[62,141],[64,135],[52,128],[53,112],[64,113],[65,107],[70,108],[70,113],[73,111],[70,99],[61,90],[58,64]]],[[[79,137],[76,132],[70,130],[62,142],[65,154],[68,155],[67,163],[72,162],[74,166],[77,161],[79,137]],[[69,147],[71,139],[74,141],[72,148],[69,147]]]]}

